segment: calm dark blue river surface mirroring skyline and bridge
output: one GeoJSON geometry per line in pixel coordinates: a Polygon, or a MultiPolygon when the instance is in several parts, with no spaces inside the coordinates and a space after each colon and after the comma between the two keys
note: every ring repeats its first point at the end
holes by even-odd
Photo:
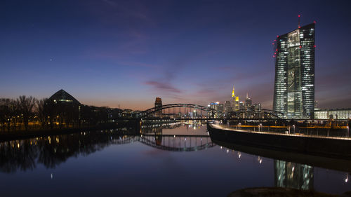
{"type": "Polygon", "coordinates": [[[131,133],[114,129],[1,142],[0,196],[227,196],[256,186],[351,190],[347,172],[220,147],[204,125],[131,133]]]}

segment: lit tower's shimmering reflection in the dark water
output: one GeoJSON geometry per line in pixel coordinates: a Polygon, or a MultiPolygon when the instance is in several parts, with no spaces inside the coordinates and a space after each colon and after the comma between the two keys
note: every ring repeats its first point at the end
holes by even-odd
{"type": "Polygon", "coordinates": [[[313,167],[274,160],[274,184],[293,189],[313,189],[313,167]]]}

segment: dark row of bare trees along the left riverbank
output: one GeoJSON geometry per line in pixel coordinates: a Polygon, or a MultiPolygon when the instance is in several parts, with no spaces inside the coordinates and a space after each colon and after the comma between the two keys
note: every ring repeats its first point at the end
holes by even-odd
{"type": "Polygon", "coordinates": [[[1,130],[80,128],[112,122],[123,116],[121,109],[94,107],[74,102],[38,100],[22,95],[16,99],[0,98],[1,130]]]}

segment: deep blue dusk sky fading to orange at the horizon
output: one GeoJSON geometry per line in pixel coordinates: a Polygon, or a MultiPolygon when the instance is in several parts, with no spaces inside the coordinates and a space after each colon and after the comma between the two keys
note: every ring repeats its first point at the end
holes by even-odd
{"type": "Polygon", "coordinates": [[[148,109],[240,100],[272,109],[272,41],[316,21],[315,100],[351,107],[348,1],[0,1],[0,97],[60,89],[148,109]]]}

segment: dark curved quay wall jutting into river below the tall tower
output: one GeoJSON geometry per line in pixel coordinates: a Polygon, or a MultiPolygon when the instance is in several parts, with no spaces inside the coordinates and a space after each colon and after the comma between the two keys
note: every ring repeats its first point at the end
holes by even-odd
{"type": "Polygon", "coordinates": [[[207,127],[211,139],[216,141],[314,156],[351,159],[350,138],[253,132],[213,124],[208,124],[207,127]]]}

